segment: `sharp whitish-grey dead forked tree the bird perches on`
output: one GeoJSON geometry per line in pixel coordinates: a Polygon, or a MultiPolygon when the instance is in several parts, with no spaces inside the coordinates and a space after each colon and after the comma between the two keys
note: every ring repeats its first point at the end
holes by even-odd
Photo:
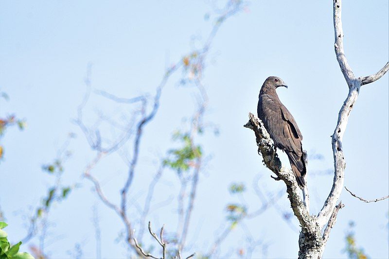
{"type": "MultiPolygon", "coordinates": [[[[341,21],[341,0],[334,0],[334,29],[335,29],[335,53],[340,69],[349,87],[349,93],[339,111],[336,128],[332,135],[332,149],[334,154],[334,183],[328,198],[317,216],[310,215],[308,207],[300,196],[300,189],[290,169],[284,168],[274,148],[274,143],[267,133],[264,124],[255,115],[249,114],[249,121],[245,127],[254,131],[256,142],[259,147],[258,153],[262,154],[265,165],[277,175],[276,180],[283,180],[286,185],[286,192],[293,209],[294,215],[301,224],[299,238],[299,258],[321,258],[325,249],[331,228],[336,222],[338,211],[344,206],[341,202],[337,204],[344,185],[344,170],[346,168],[345,156],[342,147],[342,138],[346,130],[347,121],[354,104],[358,98],[361,86],[370,84],[381,78],[389,69],[387,63],[377,73],[355,77],[347,62],[343,49],[343,29],[341,21]],[[323,232],[322,232],[323,231],[323,232]]],[[[307,190],[306,190],[307,191],[307,190]]]]}

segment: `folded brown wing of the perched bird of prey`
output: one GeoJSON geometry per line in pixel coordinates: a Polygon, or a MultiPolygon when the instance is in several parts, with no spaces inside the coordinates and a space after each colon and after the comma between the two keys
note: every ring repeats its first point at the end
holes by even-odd
{"type": "Polygon", "coordinates": [[[302,155],[301,132],[289,111],[278,99],[268,94],[260,97],[259,105],[261,107],[258,111],[262,113],[259,114],[260,119],[276,145],[300,157],[302,155]]]}

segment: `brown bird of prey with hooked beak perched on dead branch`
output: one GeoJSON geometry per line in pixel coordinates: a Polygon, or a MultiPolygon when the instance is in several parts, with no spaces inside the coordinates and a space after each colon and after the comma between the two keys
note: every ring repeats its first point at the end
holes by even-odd
{"type": "Polygon", "coordinates": [[[302,135],[295,119],[278,98],[276,89],[279,86],[288,87],[276,76],[269,76],[265,80],[259,93],[258,117],[264,123],[276,147],[288,155],[297,183],[303,189],[306,161],[301,145],[302,135]]]}

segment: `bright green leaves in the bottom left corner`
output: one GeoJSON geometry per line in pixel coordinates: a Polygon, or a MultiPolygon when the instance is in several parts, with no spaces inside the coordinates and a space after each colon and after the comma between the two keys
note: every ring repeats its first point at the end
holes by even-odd
{"type": "Polygon", "coordinates": [[[32,255],[19,252],[21,242],[11,245],[8,242],[8,234],[3,230],[8,224],[0,222],[0,259],[34,259],[32,255]]]}

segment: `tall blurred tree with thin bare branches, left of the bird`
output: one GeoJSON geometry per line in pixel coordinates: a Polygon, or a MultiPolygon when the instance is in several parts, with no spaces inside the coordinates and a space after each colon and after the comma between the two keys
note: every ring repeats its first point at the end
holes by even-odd
{"type": "MultiPolygon", "coordinates": [[[[192,214],[195,207],[196,191],[200,173],[206,164],[206,158],[202,154],[201,145],[198,143],[197,137],[202,134],[205,128],[213,127],[209,123],[203,121],[204,114],[208,105],[208,96],[206,87],[203,85],[202,78],[205,69],[206,59],[209,56],[213,39],[215,38],[219,28],[225,21],[243,10],[245,1],[228,0],[226,5],[215,10],[215,22],[211,32],[205,42],[199,48],[183,55],[182,59],[177,61],[173,66],[168,67],[156,87],[153,97],[141,95],[134,98],[122,98],[115,96],[106,91],[94,89],[91,81],[91,66],[88,67],[87,77],[85,79],[86,93],[77,109],[76,124],[79,126],[85,138],[88,141],[90,149],[94,153],[94,158],[88,163],[83,171],[83,176],[88,179],[93,185],[99,200],[106,206],[116,212],[124,225],[125,242],[132,252],[135,252],[139,257],[152,257],[150,253],[145,252],[138,241],[142,243],[144,235],[144,225],[151,211],[152,200],[155,195],[155,187],[159,183],[165,170],[170,169],[177,172],[177,177],[180,182],[180,191],[177,195],[178,199],[178,223],[177,230],[172,235],[174,238],[168,240],[169,243],[176,246],[176,251],[171,255],[176,254],[180,258],[180,252],[185,251],[185,246],[188,239],[189,226],[191,224],[192,214]],[[137,201],[131,200],[130,190],[133,188],[134,175],[139,172],[139,157],[141,153],[141,143],[143,133],[151,121],[153,121],[159,113],[160,98],[165,86],[171,76],[182,69],[183,78],[180,80],[181,85],[189,85],[196,90],[196,109],[189,120],[189,129],[184,132],[175,134],[177,141],[182,143],[182,147],[168,151],[168,156],[160,159],[158,169],[149,183],[142,183],[145,187],[148,186],[146,199],[143,205],[137,204],[137,201]],[[114,121],[109,116],[99,114],[99,119],[91,126],[84,120],[85,107],[93,94],[103,96],[109,101],[117,104],[133,105],[134,111],[131,113],[131,118],[126,118],[123,121],[114,121]],[[105,136],[99,128],[101,122],[106,122],[120,132],[118,136],[110,138],[105,136]],[[127,154],[125,149],[132,150],[131,154],[127,154]],[[106,195],[101,179],[93,173],[96,167],[108,156],[112,154],[120,154],[128,167],[124,185],[120,188],[119,203],[114,202],[106,195]],[[129,204],[135,204],[139,211],[139,217],[128,215],[129,204]],[[139,225],[137,237],[134,236],[134,225],[139,225]]],[[[110,172],[106,172],[110,173],[110,172]]],[[[262,208],[263,211],[267,205],[262,208]]],[[[152,231],[149,226],[149,232],[152,231]]],[[[153,235],[153,234],[152,234],[153,235]]],[[[154,237],[154,235],[153,235],[154,237]]],[[[155,238],[155,237],[154,237],[155,238]]],[[[156,239],[156,238],[155,238],[156,239]]],[[[156,239],[164,248],[163,257],[165,258],[165,247],[162,237],[156,239]]],[[[144,245],[144,244],[143,244],[144,245]]]]}

